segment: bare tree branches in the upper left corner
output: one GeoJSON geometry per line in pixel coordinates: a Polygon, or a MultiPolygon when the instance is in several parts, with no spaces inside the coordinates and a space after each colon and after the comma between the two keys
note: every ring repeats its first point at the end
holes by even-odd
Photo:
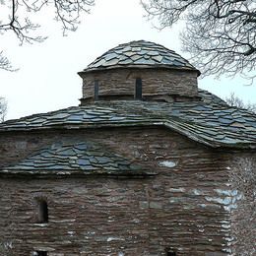
{"type": "MultiPolygon", "coordinates": [[[[95,0],[1,0],[0,34],[14,32],[21,44],[40,42],[46,37],[36,34],[39,25],[34,22],[34,14],[47,10],[49,15],[60,22],[65,35],[76,31],[81,14],[89,13],[95,0]]],[[[0,69],[13,70],[7,57],[0,51],[0,69]]]]}

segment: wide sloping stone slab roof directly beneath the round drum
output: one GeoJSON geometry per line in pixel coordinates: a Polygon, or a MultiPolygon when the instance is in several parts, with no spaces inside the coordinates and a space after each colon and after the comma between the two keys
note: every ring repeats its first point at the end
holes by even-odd
{"type": "Polygon", "coordinates": [[[174,103],[96,101],[88,106],[10,120],[0,124],[0,132],[149,125],[168,127],[214,148],[256,148],[256,115],[229,107],[222,101],[218,103],[218,97],[211,104],[204,100],[174,103]]]}

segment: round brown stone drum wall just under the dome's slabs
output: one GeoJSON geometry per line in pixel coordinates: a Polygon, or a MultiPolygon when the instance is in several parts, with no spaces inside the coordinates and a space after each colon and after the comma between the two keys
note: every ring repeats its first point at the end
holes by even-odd
{"type": "Polygon", "coordinates": [[[134,96],[135,80],[142,79],[143,96],[197,96],[197,71],[168,69],[114,69],[84,73],[83,98],[95,96],[134,96]]]}

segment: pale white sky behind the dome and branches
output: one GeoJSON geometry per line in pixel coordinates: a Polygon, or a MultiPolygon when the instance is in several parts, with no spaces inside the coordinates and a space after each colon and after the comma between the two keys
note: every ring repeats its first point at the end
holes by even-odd
{"type": "MultiPolygon", "coordinates": [[[[44,42],[19,46],[14,35],[1,35],[1,49],[20,68],[13,73],[0,70],[0,96],[8,100],[7,118],[78,105],[82,79],[77,72],[119,43],[150,40],[188,57],[180,51],[179,28],[158,31],[144,16],[140,0],[96,0],[78,31],[68,36],[62,36],[60,24],[46,11],[38,17],[40,32],[48,35],[44,42]]],[[[244,83],[239,78],[204,78],[199,87],[223,98],[234,92],[244,101],[256,103],[256,85],[244,83]]]]}

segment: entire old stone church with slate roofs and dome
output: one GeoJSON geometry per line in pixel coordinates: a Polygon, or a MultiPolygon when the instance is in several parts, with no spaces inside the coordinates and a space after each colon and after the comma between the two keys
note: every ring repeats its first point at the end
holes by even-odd
{"type": "Polygon", "coordinates": [[[150,41],[79,76],[79,106],[0,124],[0,255],[255,255],[255,114],[150,41]]]}

